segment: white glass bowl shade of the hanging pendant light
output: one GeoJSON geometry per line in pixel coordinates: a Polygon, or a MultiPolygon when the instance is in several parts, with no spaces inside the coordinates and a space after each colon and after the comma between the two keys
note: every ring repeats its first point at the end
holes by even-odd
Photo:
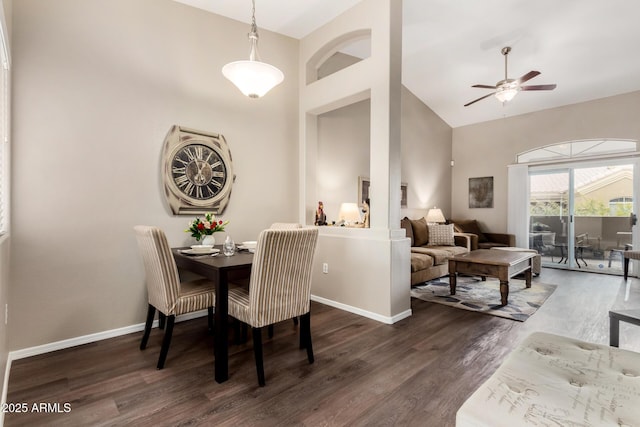
{"type": "Polygon", "coordinates": [[[222,74],[231,81],[240,92],[250,98],[260,98],[282,83],[282,71],[260,61],[235,61],[222,67],[222,74]]]}

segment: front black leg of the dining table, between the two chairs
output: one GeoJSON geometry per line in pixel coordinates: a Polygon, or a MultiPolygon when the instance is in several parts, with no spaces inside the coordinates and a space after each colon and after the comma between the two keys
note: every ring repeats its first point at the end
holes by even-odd
{"type": "Polygon", "coordinates": [[[218,273],[216,280],[216,324],[213,353],[215,355],[215,379],[223,383],[229,379],[229,343],[227,342],[227,315],[229,313],[229,283],[227,272],[218,273]]]}

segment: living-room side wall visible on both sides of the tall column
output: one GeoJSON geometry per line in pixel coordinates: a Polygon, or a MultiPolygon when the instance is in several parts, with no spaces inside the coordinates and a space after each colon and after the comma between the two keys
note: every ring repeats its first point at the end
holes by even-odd
{"type": "MultiPolygon", "coordinates": [[[[341,202],[356,202],[358,176],[369,177],[369,100],[323,114],[318,119],[318,195],[327,220],[336,220],[341,202]]],[[[407,208],[423,217],[433,206],[445,215],[451,206],[451,128],[407,88],[402,88],[402,182],[407,208]]]]}

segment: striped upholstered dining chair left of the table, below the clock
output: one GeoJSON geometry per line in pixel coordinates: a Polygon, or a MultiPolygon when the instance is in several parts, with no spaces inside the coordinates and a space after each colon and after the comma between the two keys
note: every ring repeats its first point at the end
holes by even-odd
{"type": "Polygon", "coordinates": [[[164,232],[157,227],[134,227],[146,275],[149,306],[140,350],[147,347],[156,310],[160,329],[165,329],[158,369],[164,367],[176,316],[207,309],[209,330],[213,331],[215,284],[206,279],[180,282],[178,268],[164,232]],[[166,325],[165,325],[166,323],[166,325]]]}

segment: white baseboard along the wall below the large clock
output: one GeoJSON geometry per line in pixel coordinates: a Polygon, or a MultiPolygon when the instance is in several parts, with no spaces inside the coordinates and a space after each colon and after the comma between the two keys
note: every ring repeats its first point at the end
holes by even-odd
{"type": "MultiPolygon", "coordinates": [[[[193,313],[183,314],[176,317],[176,322],[184,322],[185,320],[191,320],[198,317],[204,317],[207,315],[207,310],[194,311],[193,313]]],[[[153,327],[158,327],[158,320],[153,322],[153,327]]],[[[15,350],[9,352],[9,360],[24,359],[25,357],[37,356],[39,354],[49,353],[52,351],[63,350],[65,348],[75,347],[78,345],[89,344],[96,341],[106,340],[109,338],[115,338],[122,335],[127,335],[133,332],[140,332],[144,330],[144,323],[138,323],[136,325],[125,326],[123,328],[111,329],[109,331],[98,332],[95,334],[83,335],[80,337],[70,338],[68,340],[56,341],[49,344],[38,345],[35,347],[24,348],[22,350],[15,350]]],[[[6,378],[5,378],[6,381],[6,378]]]]}

